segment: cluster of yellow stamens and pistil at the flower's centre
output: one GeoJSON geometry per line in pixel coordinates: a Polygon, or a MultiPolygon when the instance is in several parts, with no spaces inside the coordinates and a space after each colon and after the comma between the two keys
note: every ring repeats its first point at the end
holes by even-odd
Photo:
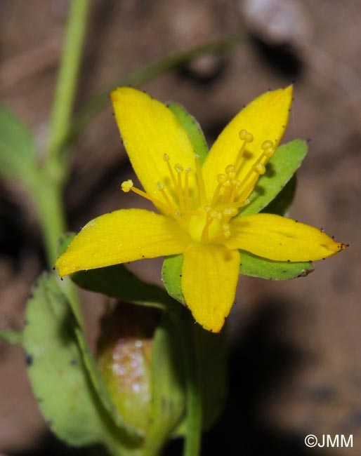
{"type": "Polygon", "coordinates": [[[259,176],[265,173],[268,160],[275,153],[275,144],[270,140],[264,141],[258,159],[249,167],[242,180],[239,180],[238,177],[247,160],[244,156],[245,149],[254,137],[246,130],[241,130],[239,139],[242,145],[235,163],[226,166],[224,173],[216,175],[217,185],[211,198],[206,195],[198,155],[195,155],[194,170],[189,167],[184,170],[180,163],[176,163],[172,168],[169,155],[164,154],[163,159],[168,168],[170,183],[165,185],[164,182],[157,182],[160,199],[137,189],[131,180],[122,183],[122,190],[124,192],[131,190],[152,201],[162,212],[176,220],[193,241],[211,243],[229,239],[230,220],[238,214],[239,208],[249,203],[249,195],[259,176]],[[195,189],[190,186],[191,175],[195,175],[195,189]],[[174,197],[169,198],[170,194],[174,197]]]}

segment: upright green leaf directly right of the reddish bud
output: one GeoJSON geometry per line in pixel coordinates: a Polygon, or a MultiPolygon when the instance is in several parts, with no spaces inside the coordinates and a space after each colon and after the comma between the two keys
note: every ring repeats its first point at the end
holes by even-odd
{"type": "Polygon", "coordinates": [[[145,441],[150,454],[159,454],[185,413],[184,335],[177,318],[162,314],[153,339],[151,425],[145,441]]]}

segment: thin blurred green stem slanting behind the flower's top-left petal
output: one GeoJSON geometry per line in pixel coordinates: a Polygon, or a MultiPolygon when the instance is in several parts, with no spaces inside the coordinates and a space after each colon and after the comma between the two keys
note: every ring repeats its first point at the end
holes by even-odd
{"type": "Polygon", "coordinates": [[[201,55],[211,53],[222,54],[229,52],[239,43],[239,36],[234,36],[221,41],[202,44],[201,46],[197,46],[190,50],[188,49],[187,51],[180,51],[179,53],[168,55],[165,58],[152,62],[141,69],[131,72],[128,76],[119,79],[119,81],[114,82],[105,90],[101,91],[97,95],[94,95],[93,98],[86,103],[86,105],[74,116],[69,135],[65,138],[65,142],[71,142],[71,140],[85,128],[87,123],[91,121],[93,116],[107,105],[109,102],[110,92],[117,86],[138,86],[145,81],[155,78],[155,76],[159,76],[159,74],[169,71],[170,69],[179,67],[187,62],[191,62],[201,55]]]}

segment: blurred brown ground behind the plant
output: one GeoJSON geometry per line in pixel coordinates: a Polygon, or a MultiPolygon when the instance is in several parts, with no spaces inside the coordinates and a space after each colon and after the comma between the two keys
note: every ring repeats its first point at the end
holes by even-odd
{"type": "MultiPolygon", "coordinates": [[[[67,5],[0,0],[1,103],[32,126],[40,154],[67,5]]],[[[310,152],[298,173],[290,216],[350,243],[346,252],[318,262],[305,279],[241,277],[230,324],[232,401],[204,439],[206,455],[361,454],[360,29],[359,0],[93,1],[77,106],[152,60],[239,34],[242,44],[232,53],[199,58],[142,88],[187,107],[211,143],[256,95],[295,81],[284,142],[310,139],[310,152]],[[310,450],[303,443],[307,434],[353,434],[353,448],[310,450]]],[[[139,206],[139,199],[119,188],[130,174],[109,105],[77,141],[66,194],[70,228],[77,231],[109,210],[139,206]]],[[[2,182],[0,189],[0,327],[21,328],[44,252],[21,186],[2,182]]],[[[160,264],[135,267],[160,283],[160,264]]],[[[101,299],[84,297],[94,337],[101,299]]],[[[1,451],[70,454],[47,434],[22,351],[4,342],[1,451]]],[[[175,444],[169,454],[177,451],[175,444]]]]}

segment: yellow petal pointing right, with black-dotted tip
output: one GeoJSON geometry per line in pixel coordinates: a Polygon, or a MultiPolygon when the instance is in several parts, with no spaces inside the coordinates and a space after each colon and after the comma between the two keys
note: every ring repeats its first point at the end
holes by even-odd
{"type": "Polygon", "coordinates": [[[287,217],[255,214],[230,222],[228,248],[239,248],[278,261],[321,260],[346,248],[320,229],[287,217]]]}

